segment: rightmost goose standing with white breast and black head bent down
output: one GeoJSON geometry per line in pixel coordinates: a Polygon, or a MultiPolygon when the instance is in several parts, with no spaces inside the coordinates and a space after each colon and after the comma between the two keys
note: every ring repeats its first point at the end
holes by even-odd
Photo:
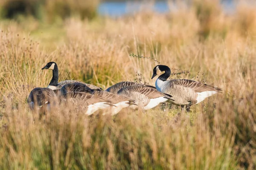
{"type": "Polygon", "coordinates": [[[221,88],[212,85],[203,84],[189,79],[171,79],[167,80],[171,75],[171,70],[166,65],[157,65],[153,69],[153,79],[155,76],[165,71],[156,80],[156,88],[162,93],[172,95],[172,101],[175,105],[181,106],[181,111],[185,111],[185,106],[202,102],[205,98],[213,94],[222,93],[221,88]]]}

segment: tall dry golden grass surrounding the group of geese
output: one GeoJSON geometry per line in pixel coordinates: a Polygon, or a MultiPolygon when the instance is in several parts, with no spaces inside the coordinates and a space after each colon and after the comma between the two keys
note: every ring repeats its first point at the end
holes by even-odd
{"type": "Polygon", "coordinates": [[[65,41],[59,45],[42,43],[45,37],[28,35],[15,22],[3,26],[0,169],[255,169],[256,6],[242,4],[226,15],[216,5],[204,22],[197,6],[116,20],[71,18],[63,23],[65,41]],[[172,78],[201,80],[224,94],[180,117],[178,108],[169,107],[113,117],[57,107],[38,120],[28,110],[29,92],[51,79],[41,70],[49,61],[58,63],[60,80],[105,89],[140,73],[154,85],[150,77],[157,62],[131,53],[188,70],[172,78]]]}

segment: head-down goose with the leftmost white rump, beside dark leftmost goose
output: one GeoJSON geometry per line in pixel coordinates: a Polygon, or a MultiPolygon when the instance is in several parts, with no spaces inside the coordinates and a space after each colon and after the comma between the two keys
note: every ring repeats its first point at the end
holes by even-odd
{"type": "Polygon", "coordinates": [[[91,115],[99,109],[113,106],[111,102],[102,96],[92,95],[81,91],[61,91],[62,102],[85,110],[85,114],[91,115]]]}

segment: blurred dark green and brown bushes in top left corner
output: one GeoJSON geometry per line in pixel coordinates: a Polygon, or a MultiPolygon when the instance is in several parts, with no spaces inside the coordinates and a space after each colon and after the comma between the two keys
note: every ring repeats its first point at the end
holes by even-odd
{"type": "Polygon", "coordinates": [[[15,19],[32,16],[53,22],[70,16],[92,19],[96,16],[99,0],[1,0],[1,18],[15,19]]]}

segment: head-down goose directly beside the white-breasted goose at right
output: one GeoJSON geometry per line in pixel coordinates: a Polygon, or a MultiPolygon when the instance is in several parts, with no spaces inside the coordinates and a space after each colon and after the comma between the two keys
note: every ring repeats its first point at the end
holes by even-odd
{"type": "Polygon", "coordinates": [[[131,106],[133,109],[142,108],[148,110],[165,102],[168,99],[173,100],[171,95],[163,94],[160,91],[147,85],[133,85],[121,88],[117,94],[134,99],[138,106],[131,106]]]}

